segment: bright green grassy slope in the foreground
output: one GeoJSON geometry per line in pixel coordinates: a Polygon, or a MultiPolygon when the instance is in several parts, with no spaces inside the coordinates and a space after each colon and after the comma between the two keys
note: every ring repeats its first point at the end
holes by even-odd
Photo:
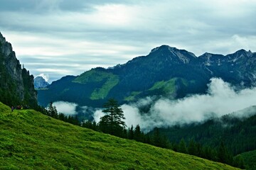
{"type": "Polygon", "coordinates": [[[0,169],[235,169],[0,103],[0,169]]]}

